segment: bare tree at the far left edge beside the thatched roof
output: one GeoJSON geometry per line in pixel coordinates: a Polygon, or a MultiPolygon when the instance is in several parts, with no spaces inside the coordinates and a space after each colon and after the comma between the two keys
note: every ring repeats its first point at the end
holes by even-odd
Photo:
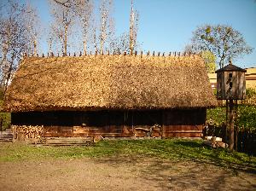
{"type": "Polygon", "coordinates": [[[36,10],[20,5],[17,0],[8,0],[0,5],[0,77],[4,92],[17,68],[22,53],[34,53],[38,40],[36,10]]]}

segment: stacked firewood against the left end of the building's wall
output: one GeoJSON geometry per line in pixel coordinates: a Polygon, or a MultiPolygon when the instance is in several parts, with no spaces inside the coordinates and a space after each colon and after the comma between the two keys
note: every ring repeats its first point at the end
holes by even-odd
{"type": "Polygon", "coordinates": [[[40,138],[43,136],[44,126],[13,125],[16,134],[23,134],[25,138],[40,138]]]}

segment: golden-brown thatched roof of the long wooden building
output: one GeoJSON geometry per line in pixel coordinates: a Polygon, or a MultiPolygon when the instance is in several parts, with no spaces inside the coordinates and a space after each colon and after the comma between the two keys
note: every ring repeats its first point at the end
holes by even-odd
{"type": "Polygon", "coordinates": [[[213,107],[201,57],[86,55],[26,58],[5,111],[213,107]]]}

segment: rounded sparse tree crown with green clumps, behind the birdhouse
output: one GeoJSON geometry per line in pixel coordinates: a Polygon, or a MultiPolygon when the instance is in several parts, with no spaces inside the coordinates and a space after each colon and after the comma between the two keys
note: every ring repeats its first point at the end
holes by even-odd
{"type": "Polygon", "coordinates": [[[241,33],[228,25],[199,26],[191,40],[191,48],[194,52],[211,51],[216,55],[219,67],[253,51],[241,33]]]}

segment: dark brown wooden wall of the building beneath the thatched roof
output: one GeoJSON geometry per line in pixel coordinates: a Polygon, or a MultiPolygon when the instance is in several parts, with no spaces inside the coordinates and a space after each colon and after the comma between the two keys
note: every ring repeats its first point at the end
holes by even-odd
{"type": "Polygon", "coordinates": [[[44,125],[44,136],[201,136],[206,109],[12,113],[13,125],[44,125]]]}

